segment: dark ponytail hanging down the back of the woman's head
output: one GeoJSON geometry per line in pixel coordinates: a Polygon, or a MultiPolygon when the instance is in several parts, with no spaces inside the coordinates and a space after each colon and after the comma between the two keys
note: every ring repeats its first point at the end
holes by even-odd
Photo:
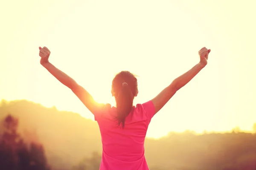
{"type": "Polygon", "coordinates": [[[125,127],[125,118],[129,115],[133,106],[134,95],[132,94],[131,88],[126,82],[122,84],[121,91],[116,98],[116,110],[118,126],[122,124],[122,128],[125,127]]]}

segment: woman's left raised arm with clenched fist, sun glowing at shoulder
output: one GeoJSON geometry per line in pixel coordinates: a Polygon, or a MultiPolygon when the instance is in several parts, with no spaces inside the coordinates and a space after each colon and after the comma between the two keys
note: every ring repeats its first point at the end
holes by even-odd
{"type": "Polygon", "coordinates": [[[94,101],[93,97],[79,84],[76,83],[74,79],[69,77],[64,72],[60,71],[54,65],[49,62],[50,51],[47,47],[39,47],[39,56],[41,57],[40,63],[44,66],[58,81],[70,88],[74,94],[83,102],[83,104],[93,113],[93,109],[100,107],[102,104],[99,104],[94,101]]]}

